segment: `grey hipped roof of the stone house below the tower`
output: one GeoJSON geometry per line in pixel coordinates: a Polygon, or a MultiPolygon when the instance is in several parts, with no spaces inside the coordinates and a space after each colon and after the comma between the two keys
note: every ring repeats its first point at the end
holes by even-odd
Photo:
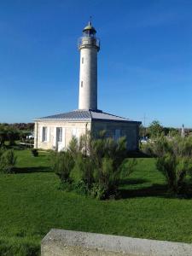
{"type": "Polygon", "coordinates": [[[93,110],[74,110],[67,113],[59,113],[54,115],[49,115],[43,118],[36,119],[38,121],[42,120],[55,120],[55,121],[91,121],[91,120],[108,120],[108,121],[124,121],[124,122],[133,122],[131,119],[126,119],[123,117],[119,117],[117,115],[113,115],[111,113],[105,113],[101,110],[93,111],[93,110]]]}

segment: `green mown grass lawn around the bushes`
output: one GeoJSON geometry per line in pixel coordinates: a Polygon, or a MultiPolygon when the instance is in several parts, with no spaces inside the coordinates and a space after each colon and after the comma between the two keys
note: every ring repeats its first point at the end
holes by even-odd
{"type": "Polygon", "coordinates": [[[192,241],[192,200],[166,195],[154,159],[137,160],[121,185],[121,200],[97,201],[59,190],[49,153],[16,154],[18,173],[0,175],[0,255],[37,255],[51,228],[192,241]]]}

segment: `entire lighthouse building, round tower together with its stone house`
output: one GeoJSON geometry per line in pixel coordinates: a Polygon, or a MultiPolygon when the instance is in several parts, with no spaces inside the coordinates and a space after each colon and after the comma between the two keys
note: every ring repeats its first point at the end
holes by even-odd
{"type": "Polygon", "coordinates": [[[105,130],[108,137],[125,136],[127,148],[138,148],[138,131],[141,122],[122,118],[97,109],[97,52],[100,41],[89,22],[79,38],[79,109],[35,119],[34,148],[65,150],[72,137],[80,137],[105,130]]]}

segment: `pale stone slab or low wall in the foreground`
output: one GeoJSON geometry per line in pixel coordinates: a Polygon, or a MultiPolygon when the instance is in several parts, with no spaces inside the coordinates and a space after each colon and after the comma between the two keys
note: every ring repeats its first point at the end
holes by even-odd
{"type": "Polygon", "coordinates": [[[50,230],[41,243],[42,256],[189,256],[192,245],[70,230],[50,230]]]}

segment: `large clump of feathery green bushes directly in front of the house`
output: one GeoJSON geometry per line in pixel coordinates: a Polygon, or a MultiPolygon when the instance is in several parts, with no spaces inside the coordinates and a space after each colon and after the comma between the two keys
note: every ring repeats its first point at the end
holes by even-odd
{"type": "Polygon", "coordinates": [[[79,141],[73,137],[66,152],[53,153],[55,173],[61,178],[61,188],[73,189],[98,199],[118,195],[119,182],[128,177],[136,160],[126,160],[126,140],[101,137],[93,139],[88,134],[79,141]]]}

